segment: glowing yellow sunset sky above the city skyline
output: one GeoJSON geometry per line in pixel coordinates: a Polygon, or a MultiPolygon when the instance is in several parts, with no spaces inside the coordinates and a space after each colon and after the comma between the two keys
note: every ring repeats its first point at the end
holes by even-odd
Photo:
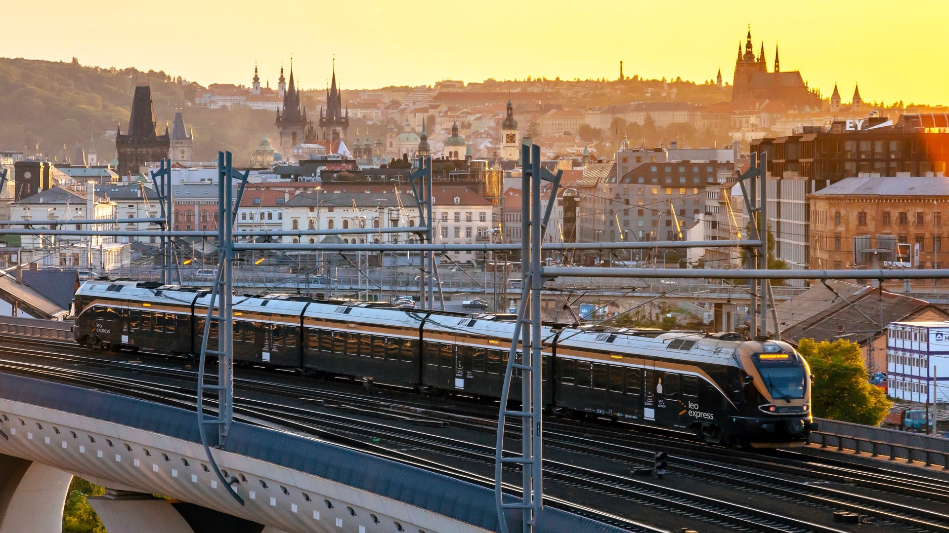
{"type": "Polygon", "coordinates": [[[933,22],[949,3],[796,0],[777,9],[732,4],[484,0],[351,4],[246,0],[213,5],[168,0],[130,5],[111,0],[54,0],[45,12],[5,7],[10,24],[0,55],[119,68],[163,70],[203,85],[249,85],[256,60],[261,82],[276,86],[280,64],[307,89],[326,86],[332,57],[344,89],[521,79],[615,80],[627,76],[731,82],[736,46],[747,25],[757,53],[764,41],[772,68],[800,69],[825,98],[839,83],[850,101],[949,103],[947,46],[933,22]],[[895,9],[894,9],[895,8],[895,9]],[[529,24],[530,23],[530,24],[529,24]],[[224,38],[226,37],[226,38],[224,38]]]}

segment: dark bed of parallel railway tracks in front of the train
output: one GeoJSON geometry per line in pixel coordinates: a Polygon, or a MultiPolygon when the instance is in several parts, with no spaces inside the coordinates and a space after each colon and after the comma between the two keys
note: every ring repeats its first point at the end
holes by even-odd
{"type": "MultiPolygon", "coordinates": [[[[195,409],[195,363],[184,358],[7,337],[0,365],[195,409]]],[[[236,420],[488,487],[497,410],[488,400],[235,369],[236,420]]],[[[941,467],[815,445],[735,450],[588,417],[546,417],[544,444],[545,505],[630,531],[949,531],[949,473],[941,467]],[[668,469],[659,479],[652,467],[661,451],[668,469]]],[[[520,443],[508,438],[506,447],[513,454],[520,443]]],[[[505,481],[518,474],[512,468],[505,481]]]]}

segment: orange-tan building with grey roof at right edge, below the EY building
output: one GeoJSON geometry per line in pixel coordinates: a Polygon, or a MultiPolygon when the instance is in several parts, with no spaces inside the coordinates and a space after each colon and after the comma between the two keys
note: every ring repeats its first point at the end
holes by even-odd
{"type": "Polygon", "coordinates": [[[949,178],[945,176],[862,174],[810,193],[808,203],[810,268],[857,267],[854,237],[860,236],[870,237],[868,246],[874,247],[892,237],[906,248],[919,244],[921,268],[949,265],[949,255],[942,249],[946,232],[942,214],[949,210],[949,178]],[[884,235],[892,237],[878,237],[884,235]]]}

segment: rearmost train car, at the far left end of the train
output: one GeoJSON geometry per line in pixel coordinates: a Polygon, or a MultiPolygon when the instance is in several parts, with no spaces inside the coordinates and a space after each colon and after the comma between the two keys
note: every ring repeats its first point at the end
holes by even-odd
{"type": "Polygon", "coordinates": [[[86,346],[192,352],[192,314],[202,289],[154,282],[87,281],[73,301],[73,335],[86,346]]]}

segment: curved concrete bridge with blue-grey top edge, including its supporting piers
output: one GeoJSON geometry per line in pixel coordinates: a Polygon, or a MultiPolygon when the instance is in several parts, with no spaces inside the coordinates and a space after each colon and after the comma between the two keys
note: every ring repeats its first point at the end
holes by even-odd
{"type": "MultiPolygon", "coordinates": [[[[196,415],[80,387],[0,374],[0,533],[59,532],[73,475],[109,533],[497,531],[494,493],[304,436],[235,422],[209,468],[196,415]],[[152,497],[158,493],[186,504],[152,497]]],[[[508,517],[511,531],[519,518],[508,517]]],[[[545,507],[535,531],[618,528],[545,507]]]]}

